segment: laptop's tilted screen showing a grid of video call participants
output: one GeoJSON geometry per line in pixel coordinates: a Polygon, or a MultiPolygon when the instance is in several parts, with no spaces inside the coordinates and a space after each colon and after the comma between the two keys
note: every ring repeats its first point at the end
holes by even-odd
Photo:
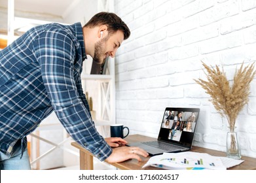
{"type": "Polygon", "coordinates": [[[191,147],[199,111],[199,108],[166,108],[158,141],[191,147]]]}

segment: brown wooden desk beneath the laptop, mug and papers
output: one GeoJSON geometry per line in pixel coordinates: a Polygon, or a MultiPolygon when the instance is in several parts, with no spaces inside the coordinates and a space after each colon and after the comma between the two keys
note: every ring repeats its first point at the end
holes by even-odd
{"type": "MultiPolygon", "coordinates": [[[[143,135],[128,135],[125,139],[128,142],[140,142],[140,141],[154,141],[154,138],[146,137],[143,135]]],[[[88,152],[88,150],[82,148],[77,142],[72,142],[72,146],[75,146],[80,151],[80,169],[81,170],[93,170],[94,169],[94,163],[93,163],[93,155],[88,152]]],[[[202,153],[208,153],[212,156],[226,156],[225,152],[220,152],[217,150],[210,150],[207,148],[200,148],[197,146],[192,146],[191,149],[192,152],[202,152],[202,153]]],[[[150,156],[147,158],[141,158],[142,161],[137,161],[137,159],[129,159],[127,161],[121,162],[121,163],[110,163],[111,165],[117,167],[118,169],[122,170],[142,170],[142,166],[147,163],[150,156]]],[[[250,170],[250,169],[256,169],[256,159],[255,158],[249,158],[246,156],[242,156],[242,159],[245,160],[240,165],[237,165],[235,167],[231,167],[230,170],[250,170]]],[[[156,167],[146,167],[145,170],[155,170],[158,169],[156,167]]]]}

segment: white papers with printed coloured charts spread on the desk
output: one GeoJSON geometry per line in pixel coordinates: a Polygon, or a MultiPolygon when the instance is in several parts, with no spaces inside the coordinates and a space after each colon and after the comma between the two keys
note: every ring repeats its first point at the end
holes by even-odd
{"type": "Polygon", "coordinates": [[[164,153],[153,156],[143,167],[153,166],[162,169],[213,169],[225,170],[239,165],[244,160],[211,156],[199,152],[164,153]]]}

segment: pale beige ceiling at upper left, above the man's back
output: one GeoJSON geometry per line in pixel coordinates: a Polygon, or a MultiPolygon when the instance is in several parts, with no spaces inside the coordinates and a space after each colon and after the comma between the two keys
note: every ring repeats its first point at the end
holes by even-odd
{"type": "MultiPolygon", "coordinates": [[[[14,9],[64,18],[79,1],[81,0],[14,0],[14,9]]],[[[0,0],[0,7],[7,8],[8,0],[0,0]]]]}

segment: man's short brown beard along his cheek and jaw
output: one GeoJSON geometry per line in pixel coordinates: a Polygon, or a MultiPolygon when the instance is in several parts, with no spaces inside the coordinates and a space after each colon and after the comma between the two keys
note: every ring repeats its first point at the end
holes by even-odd
{"type": "Polygon", "coordinates": [[[104,43],[107,42],[109,37],[104,37],[101,39],[101,41],[96,42],[94,46],[94,58],[93,61],[95,61],[98,64],[104,63],[105,59],[100,58],[101,56],[105,55],[105,52],[103,52],[103,46],[105,45],[104,43]]]}

